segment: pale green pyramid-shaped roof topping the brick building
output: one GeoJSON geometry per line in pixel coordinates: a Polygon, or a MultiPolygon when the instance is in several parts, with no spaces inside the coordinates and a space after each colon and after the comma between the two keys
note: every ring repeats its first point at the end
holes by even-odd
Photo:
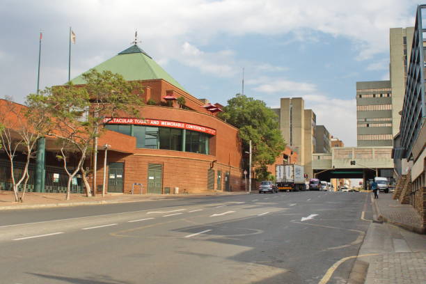
{"type": "MultiPolygon", "coordinates": [[[[123,50],[113,58],[100,63],[93,69],[97,71],[109,70],[113,73],[121,74],[126,81],[164,79],[187,92],[178,81],[173,79],[160,65],[158,65],[146,52],[137,45],[132,45],[128,49],[123,50]]],[[[83,77],[79,76],[72,79],[73,84],[85,84],[83,77]]]]}

